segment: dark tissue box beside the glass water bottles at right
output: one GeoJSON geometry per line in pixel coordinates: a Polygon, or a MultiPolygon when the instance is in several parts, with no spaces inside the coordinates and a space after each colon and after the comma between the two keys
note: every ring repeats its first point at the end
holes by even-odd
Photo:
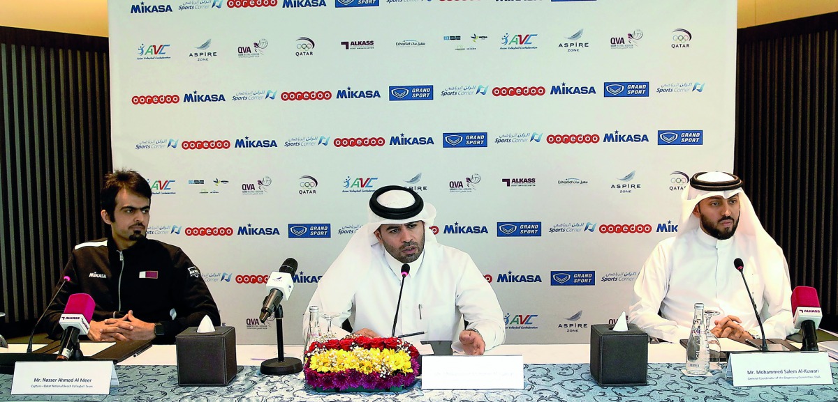
{"type": "Polygon", "coordinates": [[[649,335],[637,325],[612,331],[613,325],[591,327],[591,375],[600,385],[648,384],[649,335]]]}

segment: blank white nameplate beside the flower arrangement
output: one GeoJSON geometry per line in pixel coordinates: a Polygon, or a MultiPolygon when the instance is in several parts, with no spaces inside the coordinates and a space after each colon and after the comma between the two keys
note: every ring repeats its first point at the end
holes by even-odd
{"type": "Polygon", "coordinates": [[[422,389],[524,389],[524,356],[422,356],[422,389]]]}

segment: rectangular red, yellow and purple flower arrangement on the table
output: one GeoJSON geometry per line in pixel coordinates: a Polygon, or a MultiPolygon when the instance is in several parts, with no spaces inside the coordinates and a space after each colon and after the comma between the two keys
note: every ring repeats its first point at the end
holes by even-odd
{"type": "Polygon", "coordinates": [[[312,342],[306,383],[319,390],[386,390],[416,381],[419,351],[400,338],[355,337],[312,342]]]}

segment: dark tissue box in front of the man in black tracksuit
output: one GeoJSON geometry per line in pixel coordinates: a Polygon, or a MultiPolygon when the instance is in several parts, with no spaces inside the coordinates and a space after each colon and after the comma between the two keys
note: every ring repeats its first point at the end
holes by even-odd
{"type": "Polygon", "coordinates": [[[235,328],[198,333],[189,327],[175,337],[178,384],[227,385],[235,377],[235,328]]]}

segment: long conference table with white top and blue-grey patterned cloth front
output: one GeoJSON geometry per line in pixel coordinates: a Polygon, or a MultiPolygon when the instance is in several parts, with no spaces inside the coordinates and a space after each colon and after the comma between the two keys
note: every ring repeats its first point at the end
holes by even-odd
{"type": "MultiPolygon", "coordinates": [[[[299,357],[302,346],[286,346],[286,356],[299,357]]],[[[260,373],[265,359],[277,356],[272,345],[237,345],[238,373],[227,386],[178,385],[174,345],[154,345],[116,365],[119,386],[107,395],[12,395],[12,375],[0,374],[0,401],[834,401],[838,400],[838,363],[830,360],[835,384],[733,387],[721,371],[709,377],[688,377],[684,348],[649,344],[649,384],[602,387],[592,379],[587,344],[501,345],[487,354],[520,354],[524,358],[524,389],[423,390],[422,379],[401,392],[322,393],[307,387],[303,374],[260,373]]],[[[464,358],[470,359],[470,358],[464,358]]],[[[200,362],[195,362],[200,364],[200,362]]]]}

